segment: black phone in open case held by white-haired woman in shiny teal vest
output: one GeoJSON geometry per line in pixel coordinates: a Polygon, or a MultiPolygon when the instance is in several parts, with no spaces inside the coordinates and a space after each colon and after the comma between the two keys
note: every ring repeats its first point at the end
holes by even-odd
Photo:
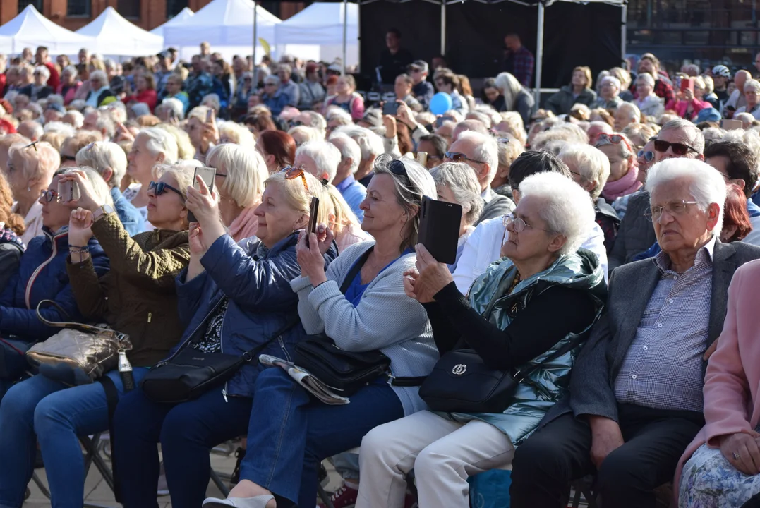
{"type": "Polygon", "coordinates": [[[420,215],[420,243],[439,263],[457,260],[462,207],[458,204],[423,197],[420,215]]]}

